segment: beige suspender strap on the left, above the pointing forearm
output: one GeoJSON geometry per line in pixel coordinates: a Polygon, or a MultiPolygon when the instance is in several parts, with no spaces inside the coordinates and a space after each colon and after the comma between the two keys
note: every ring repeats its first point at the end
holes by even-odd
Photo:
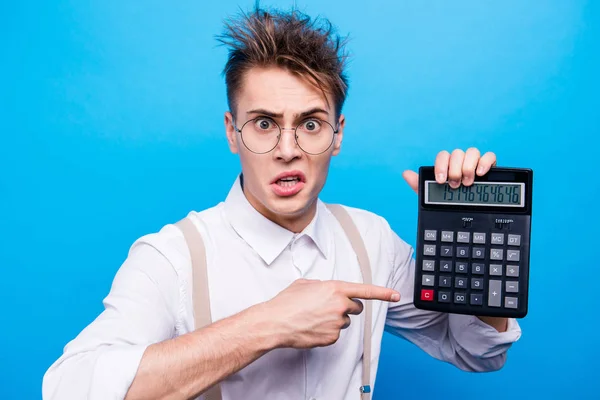
{"type": "MultiPolygon", "coordinates": [[[[196,329],[212,323],[210,315],[210,294],[208,292],[208,272],[206,270],[206,249],[200,232],[189,218],[175,225],[181,229],[192,259],[192,301],[196,329]]],[[[221,385],[216,384],[204,393],[206,400],[221,400],[221,385]]]]}

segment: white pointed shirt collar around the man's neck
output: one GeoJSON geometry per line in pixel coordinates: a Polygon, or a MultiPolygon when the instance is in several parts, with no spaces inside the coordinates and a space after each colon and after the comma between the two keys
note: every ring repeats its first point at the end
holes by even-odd
{"type": "Polygon", "coordinates": [[[225,199],[225,213],[236,233],[267,265],[275,261],[295,236],[302,234],[310,237],[321,254],[327,258],[329,230],[325,221],[327,212],[324,211],[325,205],[321,200],[317,200],[317,212],[313,220],[296,235],[259,213],[246,198],[241,183],[239,175],[225,199]]]}

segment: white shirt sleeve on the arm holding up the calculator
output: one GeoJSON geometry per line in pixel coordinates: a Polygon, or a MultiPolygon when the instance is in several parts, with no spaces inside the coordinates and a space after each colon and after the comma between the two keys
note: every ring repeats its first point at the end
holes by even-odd
{"type": "Polygon", "coordinates": [[[417,309],[413,303],[413,249],[391,229],[390,235],[394,270],[392,287],[400,292],[401,298],[398,303],[390,304],[386,331],[465,371],[502,368],[508,349],[521,336],[517,321],[509,319],[506,332],[498,332],[475,316],[417,309]]]}

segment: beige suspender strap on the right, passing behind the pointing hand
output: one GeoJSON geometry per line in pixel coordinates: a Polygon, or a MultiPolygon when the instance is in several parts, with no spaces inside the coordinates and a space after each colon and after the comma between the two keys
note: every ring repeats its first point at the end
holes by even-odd
{"type": "MultiPolygon", "coordinates": [[[[370,284],[371,279],[371,264],[365,243],[360,236],[358,228],[352,221],[352,217],[346,209],[339,204],[327,204],[327,208],[339,221],[342,229],[346,233],[350,244],[358,258],[360,271],[363,276],[363,283],[370,284]]],[[[361,400],[367,400],[371,396],[371,301],[363,300],[365,313],[365,332],[363,334],[363,363],[362,363],[362,385],[360,387],[361,400]]]]}

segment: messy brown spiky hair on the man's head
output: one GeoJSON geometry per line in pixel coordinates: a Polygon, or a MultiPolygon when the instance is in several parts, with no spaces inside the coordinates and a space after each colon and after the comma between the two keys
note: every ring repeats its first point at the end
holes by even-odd
{"type": "Polygon", "coordinates": [[[307,79],[325,99],[330,94],[336,115],[341,114],[348,91],[347,37],[338,35],[329,20],[311,19],[295,9],[267,11],[257,4],[252,12],[225,21],[217,39],[229,48],[223,74],[232,112],[244,74],[254,67],[276,66],[307,79]]]}

